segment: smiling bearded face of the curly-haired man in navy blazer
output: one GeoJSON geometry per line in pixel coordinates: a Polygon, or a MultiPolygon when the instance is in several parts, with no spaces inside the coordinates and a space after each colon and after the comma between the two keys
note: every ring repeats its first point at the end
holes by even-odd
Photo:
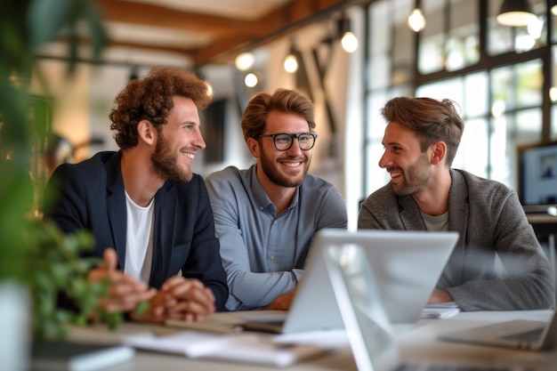
{"type": "Polygon", "coordinates": [[[174,96],[167,123],[161,125],[157,146],[151,155],[153,172],[165,180],[190,181],[191,164],[206,147],[199,131],[198,108],[190,98],[174,96]]]}

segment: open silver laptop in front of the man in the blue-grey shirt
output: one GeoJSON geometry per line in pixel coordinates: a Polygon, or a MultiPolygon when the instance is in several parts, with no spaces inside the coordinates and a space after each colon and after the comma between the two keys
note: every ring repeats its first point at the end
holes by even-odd
{"type": "MultiPolygon", "coordinates": [[[[457,232],[319,230],[311,243],[303,279],[284,322],[270,324],[254,318],[261,313],[245,312],[242,316],[248,322],[246,328],[282,334],[342,329],[343,319],[321,254],[328,246],[361,246],[379,281],[379,296],[389,321],[415,323],[457,239],[457,232]]],[[[266,311],[262,315],[270,317],[266,311]]]]}

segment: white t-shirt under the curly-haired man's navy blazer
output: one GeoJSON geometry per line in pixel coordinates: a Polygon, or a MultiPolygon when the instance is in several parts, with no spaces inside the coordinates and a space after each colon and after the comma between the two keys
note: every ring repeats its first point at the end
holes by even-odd
{"type": "Polygon", "coordinates": [[[125,192],[127,226],[125,229],[125,273],[149,283],[153,262],[153,226],[155,198],[149,206],[135,204],[125,192]]]}

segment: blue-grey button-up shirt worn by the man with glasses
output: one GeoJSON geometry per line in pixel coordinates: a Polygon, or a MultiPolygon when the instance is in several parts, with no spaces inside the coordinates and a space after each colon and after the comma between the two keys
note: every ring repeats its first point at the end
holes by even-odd
{"type": "Polygon", "coordinates": [[[264,307],[294,289],[313,235],[323,228],[347,228],[340,192],[311,174],[278,216],[257,180],[255,165],[212,173],[206,186],[228,275],[229,311],[264,307]]]}

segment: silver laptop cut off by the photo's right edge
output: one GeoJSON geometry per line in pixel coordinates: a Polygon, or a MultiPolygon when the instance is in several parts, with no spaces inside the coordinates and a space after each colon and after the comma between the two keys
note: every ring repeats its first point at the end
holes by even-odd
{"type": "Polygon", "coordinates": [[[554,349],[557,345],[557,315],[548,322],[516,319],[494,325],[467,328],[439,336],[440,340],[493,345],[529,351],[554,349]]]}

